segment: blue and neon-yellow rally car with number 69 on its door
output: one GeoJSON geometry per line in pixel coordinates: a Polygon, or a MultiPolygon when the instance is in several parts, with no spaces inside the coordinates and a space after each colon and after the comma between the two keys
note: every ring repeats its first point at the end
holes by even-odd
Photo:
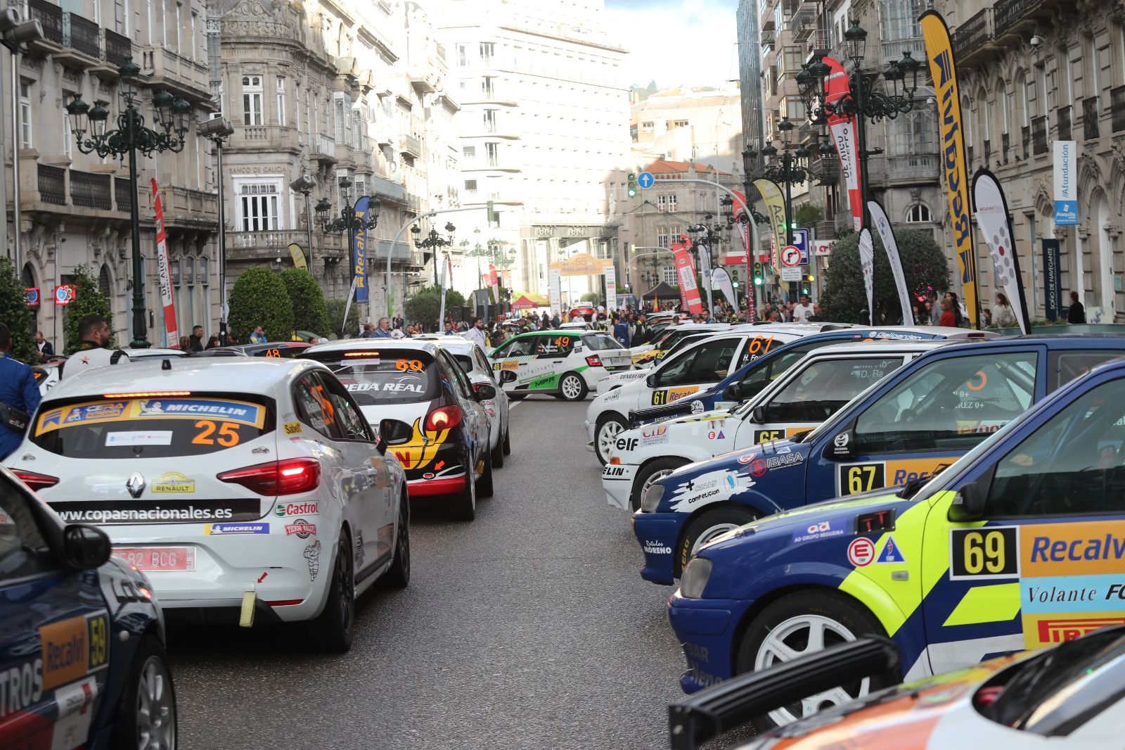
{"type": "MultiPolygon", "coordinates": [[[[1125,623],[1123,573],[1125,360],[1114,360],[925,483],[719,537],[688,563],[668,619],[688,693],[870,634],[896,643],[912,680],[1125,623]]],[[[879,686],[856,679],[768,721],[879,686]]]]}

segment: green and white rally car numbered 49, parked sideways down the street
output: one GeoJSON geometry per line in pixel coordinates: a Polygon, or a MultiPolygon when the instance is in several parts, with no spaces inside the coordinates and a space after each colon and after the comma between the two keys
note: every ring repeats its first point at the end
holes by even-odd
{"type": "Polygon", "coordinates": [[[582,401],[609,373],[632,368],[629,350],[602,331],[532,331],[488,355],[504,392],[515,399],[543,393],[582,401]]]}

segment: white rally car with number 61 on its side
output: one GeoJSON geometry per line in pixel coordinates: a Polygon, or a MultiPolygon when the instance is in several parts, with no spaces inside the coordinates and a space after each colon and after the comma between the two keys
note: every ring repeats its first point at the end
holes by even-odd
{"type": "Polygon", "coordinates": [[[602,393],[586,409],[590,449],[597,461],[609,461],[609,449],[629,423],[629,412],[678,401],[723,380],[774,347],[819,333],[820,324],[777,323],[744,325],[716,333],[665,357],[642,378],[602,393]]]}

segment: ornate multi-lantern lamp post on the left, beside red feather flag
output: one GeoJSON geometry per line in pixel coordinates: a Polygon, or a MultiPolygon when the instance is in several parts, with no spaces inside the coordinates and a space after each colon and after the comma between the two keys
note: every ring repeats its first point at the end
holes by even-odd
{"type": "Polygon", "coordinates": [[[134,106],[140,104],[136,79],[141,74],[141,68],[129,59],[117,72],[122,79],[125,109],[117,116],[116,131],[106,130],[106,122],[109,119],[106,107],[97,101],[90,107],[76,93],[74,100],[66,105],[66,114],[70,116],[71,131],[79,151],[97,152],[101,158],[126,154],[129,158],[129,222],[133,230],[133,341],[129,346],[145,349],[152,345],[148,343],[145,324],[144,266],[141,261],[141,217],[137,211],[137,152],[151,157],[163,151],[182,151],[191,105],[160,90],[152,98],[154,120],[160,127],[145,127],[144,116],[134,106]],[[86,137],[88,131],[90,135],[86,137]]]}

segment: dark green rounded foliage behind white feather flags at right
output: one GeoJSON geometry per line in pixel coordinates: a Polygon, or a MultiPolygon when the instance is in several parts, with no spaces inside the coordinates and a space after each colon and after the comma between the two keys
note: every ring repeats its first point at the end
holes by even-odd
{"type": "MultiPolygon", "coordinates": [[[[930,291],[940,296],[950,288],[950,265],[945,253],[928,232],[898,226],[894,236],[899,243],[902,274],[907,289],[915,298],[930,291]]],[[[899,293],[891,276],[890,261],[878,233],[872,233],[875,242],[874,305],[886,306],[886,320],[898,322],[902,318],[899,293]]],[[[860,266],[860,233],[853,232],[836,240],[832,245],[831,264],[825,274],[825,291],[820,295],[821,320],[842,323],[866,323],[867,293],[863,286],[863,270],[860,266]]]]}

